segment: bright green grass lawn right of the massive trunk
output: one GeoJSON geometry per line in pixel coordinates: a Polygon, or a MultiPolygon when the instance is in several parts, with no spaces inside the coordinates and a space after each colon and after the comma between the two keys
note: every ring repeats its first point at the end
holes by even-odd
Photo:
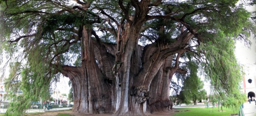
{"type": "Polygon", "coordinates": [[[222,108],[223,108],[223,112],[218,112],[218,107],[214,107],[214,108],[175,108],[175,110],[179,110],[180,112],[175,112],[174,116],[230,116],[230,114],[238,113],[238,111],[233,112],[231,109],[224,108],[224,107],[222,107],[222,108]],[[189,110],[189,111],[185,111],[185,110],[189,110]]]}

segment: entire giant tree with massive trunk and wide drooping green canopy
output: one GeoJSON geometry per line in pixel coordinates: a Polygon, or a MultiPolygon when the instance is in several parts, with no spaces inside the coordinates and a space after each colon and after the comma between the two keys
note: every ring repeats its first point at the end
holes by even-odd
{"type": "Polygon", "coordinates": [[[223,98],[236,96],[234,43],[254,29],[236,2],[0,0],[1,48],[11,59],[5,84],[14,101],[7,113],[46,98],[60,74],[72,82],[74,112],[170,110],[170,80],[188,72],[179,62],[186,57],[201,62],[223,98]]]}

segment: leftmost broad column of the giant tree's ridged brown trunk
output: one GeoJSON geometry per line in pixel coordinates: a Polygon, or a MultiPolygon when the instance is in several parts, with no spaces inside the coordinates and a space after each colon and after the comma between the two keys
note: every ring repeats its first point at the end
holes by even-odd
{"type": "MultiPolygon", "coordinates": [[[[113,109],[112,80],[102,74],[94,55],[92,30],[83,27],[82,66],[62,66],[62,74],[70,78],[74,91],[73,111],[89,114],[110,113],[113,109]],[[112,95],[112,96],[111,96],[112,95]]],[[[106,71],[106,70],[104,70],[106,71]]],[[[107,74],[107,73],[106,73],[107,74]]]]}

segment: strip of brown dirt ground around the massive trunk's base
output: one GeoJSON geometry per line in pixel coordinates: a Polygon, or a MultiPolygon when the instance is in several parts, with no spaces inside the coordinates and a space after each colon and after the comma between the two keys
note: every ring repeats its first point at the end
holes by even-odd
{"type": "MultiPolygon", "coordinates": [[[[74,116],[113,116],[112,114],[84,114],[84,113],[76,113],[71,110],[64,111],[53,111],[53,112],[44,112],[43,114],[30,114],[29,116],[56,116],[59,113],[70,114],[74,116]]],[[[174,111],[165,112],[165,113],[154,113],[146,116],[173,116],[174,111]]]]}

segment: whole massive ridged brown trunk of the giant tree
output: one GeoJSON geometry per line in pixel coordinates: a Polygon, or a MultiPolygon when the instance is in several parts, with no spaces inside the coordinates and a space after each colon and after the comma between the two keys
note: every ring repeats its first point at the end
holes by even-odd
{"type": "Polygon", "coordinates": [[[101,42],[88,25],[80,28],[82,66],[62,66],[61,70],[72,82],[74,112],[144,115],[172,110],[170,80],[196,30],[182,31],[170,45],[158,40],[145,47],[138,45],[148,4],[149,0],[132,4],[140,12],[118,25],[116,45],[101,42]]]}

